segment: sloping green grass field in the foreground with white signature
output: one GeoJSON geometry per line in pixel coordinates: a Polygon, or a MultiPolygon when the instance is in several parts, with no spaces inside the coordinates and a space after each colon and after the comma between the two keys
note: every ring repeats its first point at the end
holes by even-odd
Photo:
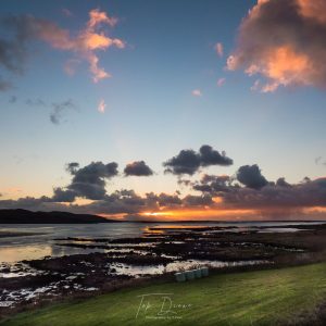
{"type": "Polygon", "coordinates": [[[24,312],[0,325],[271,325],[313,314],[325,300],[326,263],[318,263],[138,286],[24,312]],[[136,318],[146,293],[152,296],[143,297],[136,318]],[[171,299],[174,313],[158,316],[164,297],[164,311],[171,299]]]}

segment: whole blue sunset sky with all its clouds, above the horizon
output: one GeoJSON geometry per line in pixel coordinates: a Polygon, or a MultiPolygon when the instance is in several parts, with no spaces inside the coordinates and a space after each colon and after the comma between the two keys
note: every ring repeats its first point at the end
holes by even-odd
{"type": "Polygon", "coordinates": [[[326,217],[326,1],[0,8],[1,209],[326,217]]]}

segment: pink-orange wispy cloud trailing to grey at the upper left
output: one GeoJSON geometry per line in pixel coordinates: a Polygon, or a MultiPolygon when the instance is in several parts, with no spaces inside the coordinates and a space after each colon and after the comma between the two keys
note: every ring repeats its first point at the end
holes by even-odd
{"type": "MultiPolygon", "coordinates": [[[[0,65],[14,74],[22,74],[28,57],[27,45],[33,40],[42,40],[53,49],[68,51],[78,60],[86,60],[92,80],[98,83],[110,77],[110,74],[99,66],[97,51],[111,47],[125,48],[122,39],[109,37],[102,30],[103,25],[113,27],[116,23],[115,17],[110,17],[105,12],[95,9],[89,12],[89,21],[85,28],[77,32],[76,36],[72,36],[70,30],[61,28],[51,21],[32,15],[8,16],[2,18],[0,24],[13,34],[13,38],[0,38],[0,65]]],[[[74,71],[71,63],[75,63],[75,61],[68,61],[65,66],[70,73],[74,71]]],[[[2,88],[5,88],[5,84],[2,88]]]]}

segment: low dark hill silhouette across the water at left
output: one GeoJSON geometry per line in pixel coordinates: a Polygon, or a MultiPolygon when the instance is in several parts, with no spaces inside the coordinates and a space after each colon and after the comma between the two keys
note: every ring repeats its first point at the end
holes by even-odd
{"type": "Polygon", "coordinates": [[[0,224],[82,224],[112,223],[98,215],[67,212],[30,212],[27,210],[0,210],[0,224]]]}

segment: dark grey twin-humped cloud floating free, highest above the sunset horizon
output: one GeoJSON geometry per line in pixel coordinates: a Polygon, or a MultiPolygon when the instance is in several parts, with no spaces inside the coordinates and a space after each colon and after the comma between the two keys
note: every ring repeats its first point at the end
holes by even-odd
{"type": "Polygon", "coordinates": [[[211,146],[203,145],[199,152],[193,150],[181,150],[176,156],[163,163],[165,173],[175,175],[193,175],[201,166],[222,165],[228,166],[233,160],[227,158],[225,152],[220,153],[211,146]]]}

